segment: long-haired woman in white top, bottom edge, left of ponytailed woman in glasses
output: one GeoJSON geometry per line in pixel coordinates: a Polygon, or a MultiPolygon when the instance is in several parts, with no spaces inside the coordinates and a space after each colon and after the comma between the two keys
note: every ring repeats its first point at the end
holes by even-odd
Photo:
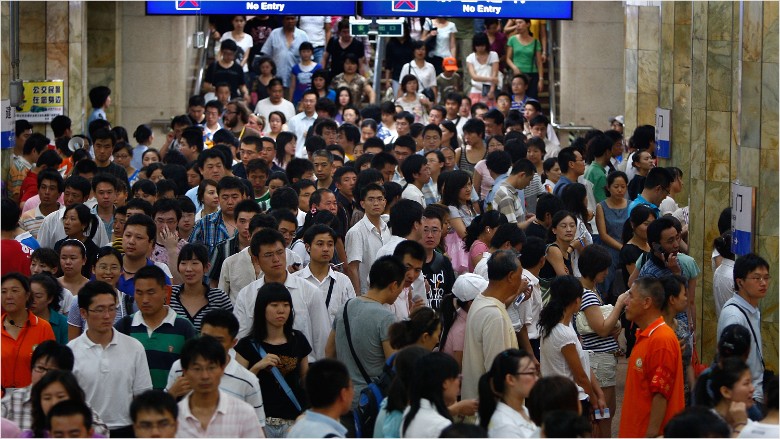
{"type": "Polygon", "coordinates": [[[415,369],[401,437],[439,437],[452,425],[447,406],[457,402],[460,392],[458,363],[445,353],[433,352],[417,360],[415,369]]]}

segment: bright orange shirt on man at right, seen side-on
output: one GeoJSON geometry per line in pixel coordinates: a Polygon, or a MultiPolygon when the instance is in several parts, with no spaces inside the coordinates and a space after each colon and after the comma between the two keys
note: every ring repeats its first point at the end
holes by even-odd
{"type": "Polygon", "coordinates": [[[644,330],[637,330],[636,344],[628,359],[619,437],[645,437],[656,393],[667,401],[658,431],[662,434],[669,419],[685,408],[680,343],[663,317],[644,330]]]}

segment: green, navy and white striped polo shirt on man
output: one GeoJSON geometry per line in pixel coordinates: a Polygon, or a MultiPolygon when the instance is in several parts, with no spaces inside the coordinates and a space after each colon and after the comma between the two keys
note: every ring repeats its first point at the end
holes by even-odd
{"type": "Polygon", "coordinates": [[[146,351],[146,361],[152,376],[152,387],[164,389],[168,381],[168,371],[179,359],[184,342],[195,337],[195,327],[184,317],[168,309],[160,326],[150,328],[140,311],[126,316],[115,325],[116,329],[138,340],[146,351]]]}

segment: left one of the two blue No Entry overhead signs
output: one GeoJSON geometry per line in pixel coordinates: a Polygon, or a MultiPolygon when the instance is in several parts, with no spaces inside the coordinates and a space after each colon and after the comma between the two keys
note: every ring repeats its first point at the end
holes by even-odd
{"type": "Polygon", "coordinates": [[[146,2],[146,15],[355,15],[355,2],[158,0],[146,2]]]}

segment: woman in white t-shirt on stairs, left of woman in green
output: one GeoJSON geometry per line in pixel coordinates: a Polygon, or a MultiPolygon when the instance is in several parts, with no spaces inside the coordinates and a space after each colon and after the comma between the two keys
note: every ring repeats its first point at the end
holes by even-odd
{"type": "Polygon", "coordinates": [[[466,66],[471,77],[469,98],[472,105],[482,102],[493,106],[496,86],[499,84],[498,54],[490,50],[490,41],[485,34],[476,34],[472,39],[474,52],[466,57],[466,66]]]}

